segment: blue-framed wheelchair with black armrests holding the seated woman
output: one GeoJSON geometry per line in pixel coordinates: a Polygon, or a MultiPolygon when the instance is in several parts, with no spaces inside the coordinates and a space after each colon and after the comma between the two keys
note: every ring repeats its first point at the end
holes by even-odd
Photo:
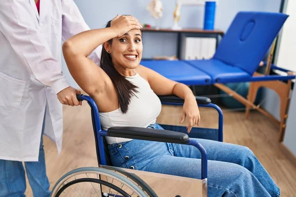
{"type": "MultiPolygon", "coordinates": [[[[99,110],[89,96],[77,95],[91,107],[91,117],[99,167],[81,167],[63,175],[54,185],[50,197],[207,197],[207,153],[202,144],[190,138],[223,141],[223,114],[211,99],[196,97],[198,106],[214,108],[219,114],[218,129],[195,128],[187,133],[184,126],[159,124],[164,130],[137,127],[101,129],[99,110]],[[174,129],[174,131],[171,131],[174,129]],[[201,152],[201,179],[159,174],[111,165],[105,136],[142,139],[195,146],[201,152]]],[[[162,105],[183,105],[175,96],[159,96],[162,105]]]]}

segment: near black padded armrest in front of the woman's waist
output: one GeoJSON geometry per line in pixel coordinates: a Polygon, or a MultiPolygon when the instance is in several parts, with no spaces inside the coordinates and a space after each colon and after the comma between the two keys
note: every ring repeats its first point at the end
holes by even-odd
{"type": "Polygon", "coordinates": [[[189,141],[186,133],[140,127],[111,127],[107,130],[107,136],[179,144],[186,144],[189,141]]]}

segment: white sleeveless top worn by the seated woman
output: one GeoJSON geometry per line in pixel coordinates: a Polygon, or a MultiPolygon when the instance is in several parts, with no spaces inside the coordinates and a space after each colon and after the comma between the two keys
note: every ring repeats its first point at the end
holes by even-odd
{"type": "MultiPolygon", "coordinates": [[[[138,88],[136,97],[131,98],[128,111],[123,114],[120,108],[106,113],[99,113],[103,130],[110,127],[142,127],[146,128],[156,122],[156,118],[161,111],[161,102],[149,83],[138,73],[134,76],[127,76],[127,80],[138,88]]],[[[106,136],[108,144],[131,141],[129,138],[106,136]]]]}

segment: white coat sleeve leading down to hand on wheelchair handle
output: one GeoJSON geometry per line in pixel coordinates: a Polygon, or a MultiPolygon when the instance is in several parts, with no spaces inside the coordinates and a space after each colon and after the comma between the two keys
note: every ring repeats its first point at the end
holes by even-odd
{"type": "Polygon", "coordinates": [[[49,45],[35,27],[35,13],[27,0],[0,0],[0,32],[31,75],[55,93],[69,87],[61,63],[52,56],[49,45]]]}

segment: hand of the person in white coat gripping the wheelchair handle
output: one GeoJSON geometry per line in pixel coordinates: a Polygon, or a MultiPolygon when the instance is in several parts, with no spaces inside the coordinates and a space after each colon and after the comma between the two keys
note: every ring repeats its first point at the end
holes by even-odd
{"type": "Polygon", "coordinates": [[[73,87],[68,87],[57,94],[59,101],[62,104],[77,106],[82,105],[81,101],[78,101],[76,94],[81,94],[79,90],[73,87]]]}

